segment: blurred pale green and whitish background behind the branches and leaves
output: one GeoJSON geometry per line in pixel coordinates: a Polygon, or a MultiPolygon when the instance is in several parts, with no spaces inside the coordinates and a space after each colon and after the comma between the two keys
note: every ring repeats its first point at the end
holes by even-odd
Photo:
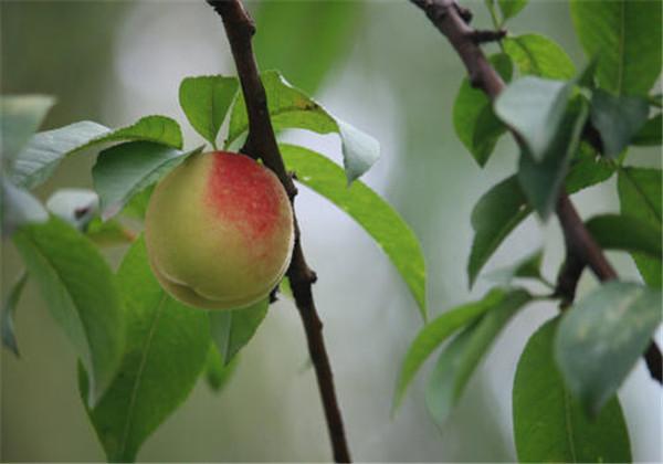
{"type": "MultiPolygon", "coordinates": [[[[475,24],[490,27],[483,1],[464,2],[475,24]]],[[[469,293],[470,212],[490,186],[515,169],[504,138],[481,170],[454,135],[451,108],[464,70],[445,39],[406,1],[250,2],[264,68],[278,68],[333,113],[380,140],[382,157],[365,181],[387,198],[420,238],[431,314],[481,295],[469,293]]],[[[219,18],[203,1],[1,1],[1,91],[57,97],[44,127],[93,119],[115,127],[147,114],[175,117],[188,146],[200,141],[177,103],[187,75],[233,74],[219,18]]],[[[533,1],[514,33],[557,40],[573,61],[583,55],[564,1],[533,1]]],[[[488,48],[490,49],[490,48],[488,48]]],[[[285,137],[340,159],[334,136],[285,137]]],[[[90,187],[94,154],[69,159],[38,194],[90,187]]],[[[661,165],[657,150],[633,150],[631,162],[661,165]]],[[[302,189],[304,190],[304,189],[302,189]]],[[[613,181],[576,196],[583,217],[617,211],[613,181]]],[[[335,369],[337,393],[357,461],[513,461],[511,383],[533,329],[550,315],[539,304],[520,313],[470,383],[449,423],[438,429],[424,404],[420,375],[399,414],[390,402],[399,362],[420,328],[415,304],[365,232],[324,199],[297,199],[303,243],[319,281],[315,296],[335,369]]],[[[554,278],[561,261],[556,222],[529,219],[487,270],[543,243],[554,278]]],[[[123,250],[112,250],[117,262],[123,250]]],[[[638,278],[630,259],[610,257],[638,278]]],[[[2,244],[2,285],[21,270],[2,244]]],[[[580,294],[596,285],[581,281],[580,294]]],[[[21,359],[2,350],[2,461],[102,461],[78,399],[75,358],[36,288],[29,284],[17,317],[21,359]]],[[[661,334],[659,334],[659,339],[661,334]]],[[[189,400],[146,443],[141,461],[325,461],[330,457],[315,376],[298,316],[284,299],[272,306],[219,396],[199,382],[189,400]]],[[[430,366],[429,366],[430,368],[430,366]]],[[[428,369],[427,369],[428,370],[428,369]]],[[[634,458],[660,462],[662,393],[642,363],[620,393],[634,458]],[[652,408],[652,404],[659,408],[652,408]]]]}

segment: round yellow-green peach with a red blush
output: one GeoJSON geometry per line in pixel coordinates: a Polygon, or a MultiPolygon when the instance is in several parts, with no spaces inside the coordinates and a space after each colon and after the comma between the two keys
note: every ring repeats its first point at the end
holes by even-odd
{"type": "Polygon", "coordinates": [[[252,158],[193,155],[156,187],[145,241],[170,295],[194,307],[235,309],[281,282],[293,250],[293,211],[278,178],[252,158]]]}

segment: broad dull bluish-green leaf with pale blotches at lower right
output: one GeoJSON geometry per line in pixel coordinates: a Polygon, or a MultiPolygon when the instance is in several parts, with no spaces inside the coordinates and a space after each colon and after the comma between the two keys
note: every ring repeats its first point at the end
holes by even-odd
{"type": "Polygon", "coordinates": [[[612,398],[663,319],[659,289],[608,282],[565,315],[555,357],[569,390],[596,415],[612,398]]]}

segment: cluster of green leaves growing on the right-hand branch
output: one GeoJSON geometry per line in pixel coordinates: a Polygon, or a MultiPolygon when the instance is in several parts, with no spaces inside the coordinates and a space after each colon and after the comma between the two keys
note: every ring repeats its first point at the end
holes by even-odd
{"type": "MultiPolygon", "coordinates": [[[[496,29],[526,0],[486,0],[496,29]]],[[[514,380],[514,435],[524,462],[625,462],[628,429],[617,392],[662,319],[661,170],[630,166],[631,146],[661,146],[661,109],[648,95],[661,71],[661,8],[655,1],[570,1],[588,64],[576,70],[562,48],[538,34],[508,34],[490,63],[507,83],[494,102],[469,78],[453,106],[459,139],[481,168],[498,139],[514,135],[517,170],[485,192],[472,212],[467,262],[473,286],[511,233],[532,213],[547,221],[560,193],[617,177],[620,211],[586,228],[603,250],[631,254],[643,283],[604,283],[566,308],[565,295],[541,273],[543,251],[486,274],[497,284],[424,326],[397,380],[394,407],[424,360],[440,350],[427,403],[442,423],[467,378],[513,315],[538,299],[559,299],[562,315],[536,331],[514,380]],[[532,294],[515,280],[537,282],[532,294]]],[[[564,265],[560,268],[562,273],[564,265]]]]}

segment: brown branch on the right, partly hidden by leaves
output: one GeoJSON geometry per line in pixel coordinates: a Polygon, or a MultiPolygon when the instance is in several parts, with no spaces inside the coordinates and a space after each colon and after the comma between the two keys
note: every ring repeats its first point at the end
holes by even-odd
{"type": "MultiPolygon", "coordinates": [[[[504,89],[504,81],[486,60],[483,51],[474,40],[476,32],[469,25],[467,20],[471,14],[469,15],[465,10],[461,9],[455,0],[410,1],[422,9],[435,28],[446,36],[465,64],[472,85],[483,89],[491,99],[494,99],[504,89]]],[[[516,141],[522,143],[517,134],[514,134],[514,136],[516,141]]],[[[617,278],[614,268],[585,226],[565,191],[559,196],[557,217],[565,234],[567,252],[575,254],[589,266],[601,282],[617,278]]],[[[577,273],[576,278],[579,277],[580,272],[577,273]]],[[[568,283],[566,284],[568,285],[568,283]]],[[[572,284],[573,293],[576,284],[577,282],[572,284]]],[[[643,356],[652,378],[663,383],[661,372],[663,358],[654,341],[650,344],[643,356]]]]}

